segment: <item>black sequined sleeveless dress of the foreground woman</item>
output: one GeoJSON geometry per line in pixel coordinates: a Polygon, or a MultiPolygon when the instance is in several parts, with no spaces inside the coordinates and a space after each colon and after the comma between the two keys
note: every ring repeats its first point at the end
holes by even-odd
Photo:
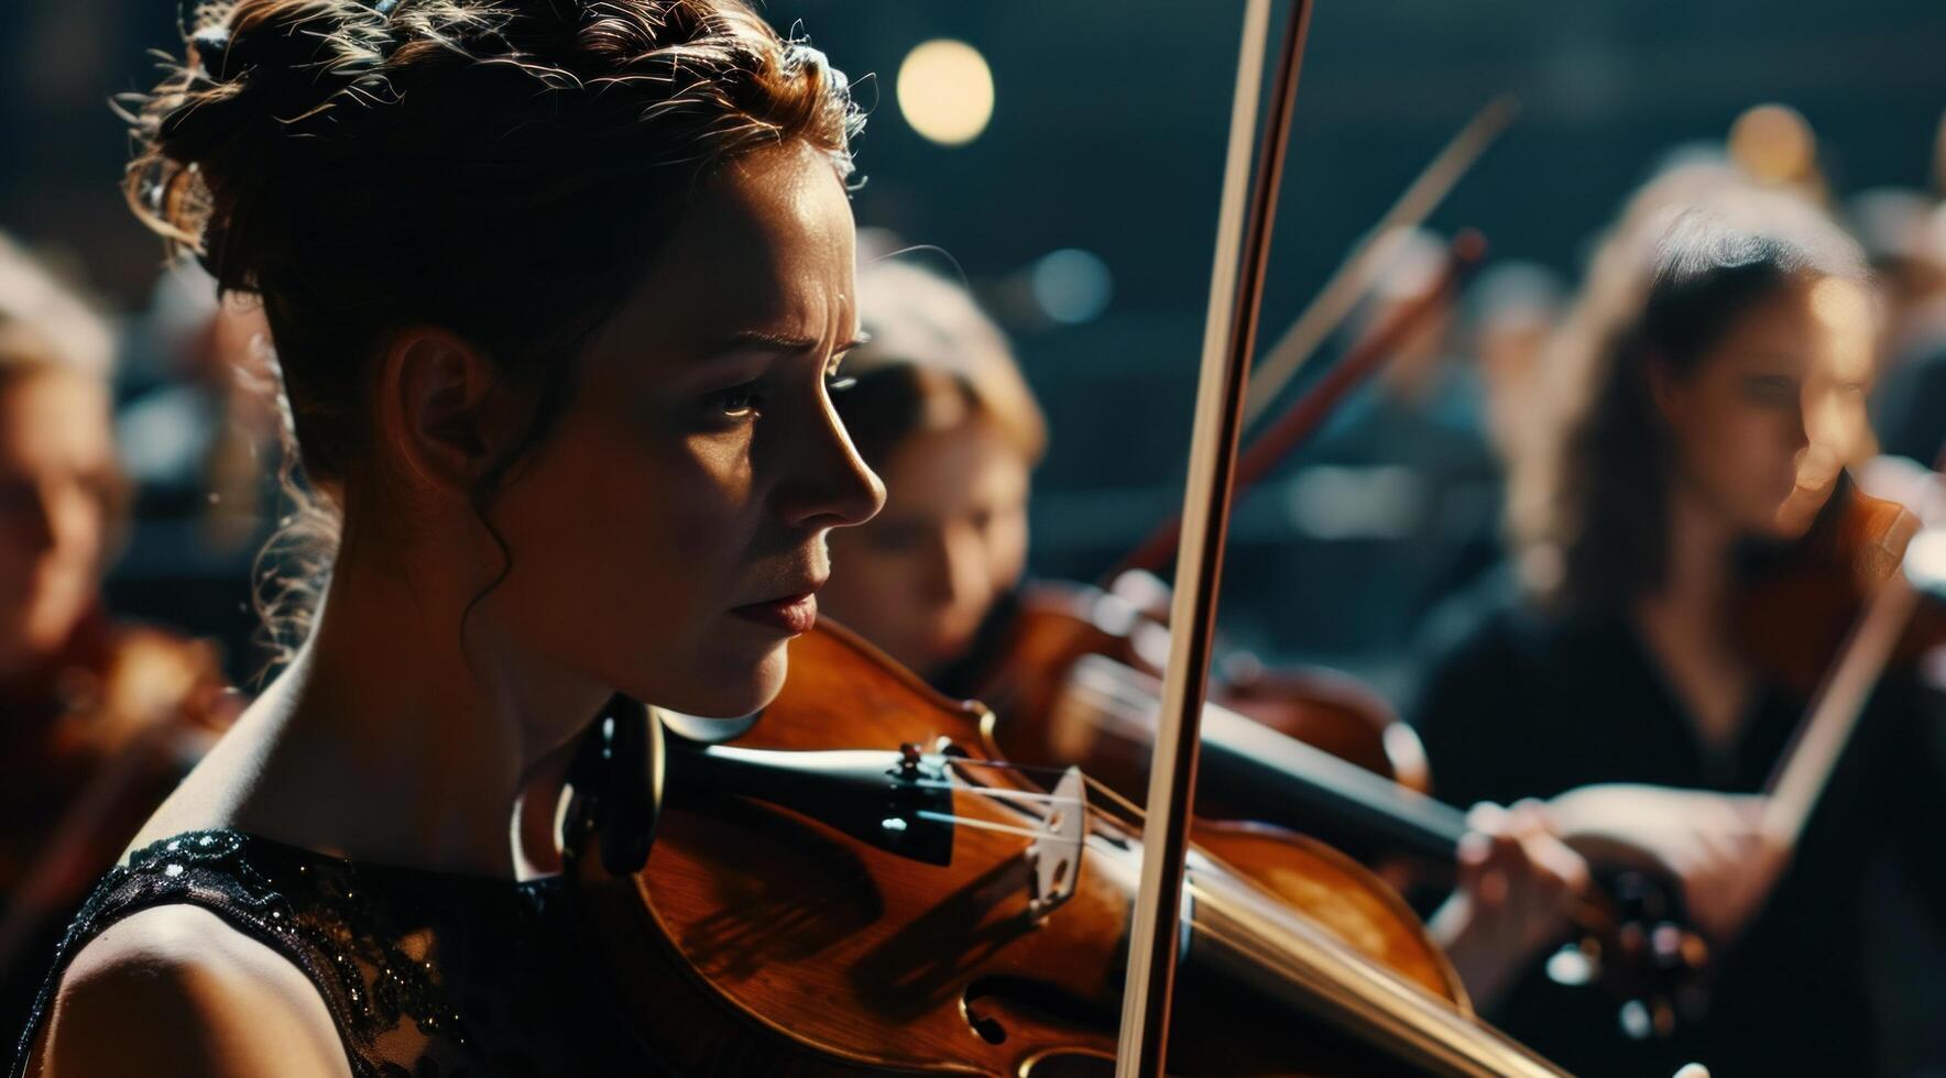
{"type": "Polygon", "coordinates": [[[667,1074],[578,969],[559,878],[376,866],[239,831],[191,831],[130,854],[95,887],[35,1002],[14,1078],[72,955],[162,905],[206,909],[302,969],[358,1078],[667,1074]]]}

